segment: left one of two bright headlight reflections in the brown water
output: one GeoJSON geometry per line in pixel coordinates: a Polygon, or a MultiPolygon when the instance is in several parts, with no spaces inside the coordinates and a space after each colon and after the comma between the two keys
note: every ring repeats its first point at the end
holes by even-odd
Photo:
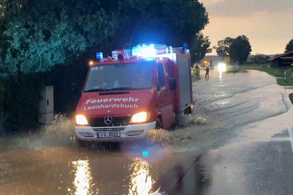
{"type": "Polygon", "coordinates": [[[98,189],[95,190],[96,193],[92,191],[92,173],[91,168],[89,167],[89,160],[78,160],[72,161],[70,163],[74,167],[74,181],[73,185],[75,192],[68,188],[68,191],[71,192],[70,195],[93,195],[98,194],[98,189]]]}

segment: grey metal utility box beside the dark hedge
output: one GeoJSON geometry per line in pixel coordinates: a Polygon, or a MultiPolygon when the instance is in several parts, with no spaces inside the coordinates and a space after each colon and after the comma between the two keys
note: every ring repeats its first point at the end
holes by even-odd
{"type": "Polygon", "coordinates": [[[47,86],[44,88],[42,99],[39,103],[39,118],[41,124],[49,124],[54,120],[54,88],[47,86]]]}

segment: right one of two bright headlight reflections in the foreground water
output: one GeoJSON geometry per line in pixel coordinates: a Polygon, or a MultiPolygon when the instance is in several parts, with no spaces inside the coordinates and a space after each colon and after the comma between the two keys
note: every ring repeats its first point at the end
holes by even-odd
{"type": "Polygon", "coordinates": [[[130,165],[133,173],[130,175],[129,193],[128,195],[155,195],[159,194],[159,189],[151,192],[152,186],[155,181],[152,179],[149,169],[148,161],[142,158],[135,158],[134,162],[130,165]]]}

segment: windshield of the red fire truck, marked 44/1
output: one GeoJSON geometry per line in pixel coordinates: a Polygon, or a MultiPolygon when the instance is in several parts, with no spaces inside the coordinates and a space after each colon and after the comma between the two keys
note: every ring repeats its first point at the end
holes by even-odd
{"type": "Polygon", "coordinates": [[[90,68],[84,92],[152,88],[154,62],[98,65],[90,68]]]}

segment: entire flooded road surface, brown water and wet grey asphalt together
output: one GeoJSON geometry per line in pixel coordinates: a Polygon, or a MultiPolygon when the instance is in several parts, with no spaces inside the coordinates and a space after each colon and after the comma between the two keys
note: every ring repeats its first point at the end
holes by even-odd
{"type": "Polygon", "coordinates": [[[293,90],[275,82],[211,70],[193,82],[195,113],[180,128],[118,149],[78,148],[66,117],[2,137],[0,195],[292,194],[293,90]]]}

